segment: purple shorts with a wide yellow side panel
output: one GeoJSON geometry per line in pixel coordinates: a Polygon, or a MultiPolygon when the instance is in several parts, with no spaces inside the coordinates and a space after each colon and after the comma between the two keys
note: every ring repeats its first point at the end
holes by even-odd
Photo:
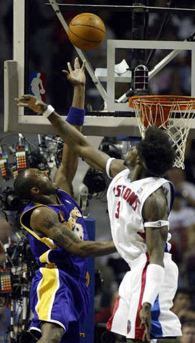
{"type": "Polygon", "coordinates": [[[80,342],[80,325],[89,309],[88,286],[58,268],[39,268],[31,285],[31,309],[34,317],[30,330],[41,336],[43,322],[63,327],[61,343],[80,342]]]}

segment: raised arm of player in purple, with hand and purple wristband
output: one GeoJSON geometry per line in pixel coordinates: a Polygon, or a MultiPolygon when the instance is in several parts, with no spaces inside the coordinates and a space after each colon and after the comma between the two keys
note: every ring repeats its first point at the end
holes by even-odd
{"type": "MultiPolygon", "coordinates": [[[[74,86],[72,106],[69,110],[66,120],[78,131],[82,130],[84,121],[84,100],[85,100],[85,61],[80,67],[78,57],[75,58],[74,68],[68,62],[68,70],[63,71],[67,79],[74,86]]],[[[62,163],[57,170],[54,181],[59,189],[73,194],[72,181],[78,168],[78,153],[73,151],[64,143],[62,152],[62,163]]]]}

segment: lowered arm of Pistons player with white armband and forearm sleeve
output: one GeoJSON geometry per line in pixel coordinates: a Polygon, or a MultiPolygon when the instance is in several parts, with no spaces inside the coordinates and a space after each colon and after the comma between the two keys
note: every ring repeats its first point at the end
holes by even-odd
{"type": "Polygon", "coordinates": [[[151,307],[154,305],[164,279],[163,258],[168,235],[168,206],[161,188],[148,197],[143,206],[142,216],[144,223],[148,223],[146,224],[145,233],[149,266],[146,271],[146,283],[139,317],[141,319],[140,327],[144,328],[142,341],[149,342],[151,307]],[[158,223],[162,223],[162,226],[158,227],[158,223]]]}

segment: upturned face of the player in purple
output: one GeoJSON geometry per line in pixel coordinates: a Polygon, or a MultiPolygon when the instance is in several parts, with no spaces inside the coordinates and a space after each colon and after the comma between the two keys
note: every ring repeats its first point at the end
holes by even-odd
{"type": "Polygon", "coordinates": [[[26,170],[25,177],[30,177],[35,181],[35,185],[39,187],[41,194],[55,194],[58,189],[57,185],[52,182],[49,171],[30,168],[26,170]]]}

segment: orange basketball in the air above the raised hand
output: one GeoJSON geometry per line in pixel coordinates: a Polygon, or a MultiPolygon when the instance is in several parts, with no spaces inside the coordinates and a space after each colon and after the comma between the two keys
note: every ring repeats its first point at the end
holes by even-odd
{"type": "Polygon", "coordinates": [[[74,17],[68,28],[70,41],[79,49],[97,48],[105,36],[103,21],[93,13],[81,13],[74,17]]]}

